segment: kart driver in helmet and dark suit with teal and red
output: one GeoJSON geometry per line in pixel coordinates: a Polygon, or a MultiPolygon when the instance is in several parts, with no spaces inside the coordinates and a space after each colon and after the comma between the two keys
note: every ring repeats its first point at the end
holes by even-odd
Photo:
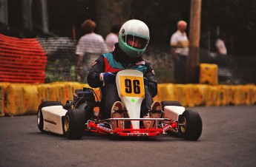
{"type": "MultiPolygon", "coordinates": [[[[118,43],[115,44],[114,51],[99,55],[93,63],[87,79],[89,86],[101,88],[102,100],[99,113],[102,119],[122,117],[122,113],[121,116],[112,113],[116,107],[117,110],[124,110],[122,103],[119,102],[115,79],[116,72],[123,69],[137,69],[143,73],[145,98],[142,101],[140,117],[150,117],[148,112],[152,109],[152,98],[157,95],[157,80],[151,63],[142,58],[148,41],[149,30],[144,22],[135,19],[126,21],[119,30],[118,43]]],[[[156,108],[160,105],[161,103],[158,102],[153,106],[156,108]]]]}

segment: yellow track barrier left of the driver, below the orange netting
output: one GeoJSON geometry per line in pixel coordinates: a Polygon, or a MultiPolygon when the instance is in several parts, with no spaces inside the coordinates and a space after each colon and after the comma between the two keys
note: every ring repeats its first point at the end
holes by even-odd
{"type": "MultiPolygon", "coordinates": [[[[35,115],[42,101],[65,104],[67,100],[73,100],[75,89],[83,87],[89,86],[78,82],[0,83],[0,116],[35,115]]],[[[94,91],[100,100],[99,89],[94,91]]]]}

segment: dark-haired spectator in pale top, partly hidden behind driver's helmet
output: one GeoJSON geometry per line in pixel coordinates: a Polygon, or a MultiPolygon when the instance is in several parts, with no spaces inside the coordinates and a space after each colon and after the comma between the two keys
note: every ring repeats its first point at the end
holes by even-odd
{"type": "Polygon", "coordinates": [[[114,24],[111,27],[111,33],[109,33],[105,38],[105,42],[106,42],[106,44],[108,44],[108,48],[110,51],[114,50],[114,44],[116,44],[118,42],[119,30],[120,30],[119,25],[114,24]]]}

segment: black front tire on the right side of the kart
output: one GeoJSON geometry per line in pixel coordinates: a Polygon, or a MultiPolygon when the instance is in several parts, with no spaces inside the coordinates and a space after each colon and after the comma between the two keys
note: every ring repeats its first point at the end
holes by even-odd
{"type": "Polygon", "coordinates": [[[186,110],[179,117],[179,134],[185,140],[198,140],[202,134],[203,123],[198,112],[186,110]]]}

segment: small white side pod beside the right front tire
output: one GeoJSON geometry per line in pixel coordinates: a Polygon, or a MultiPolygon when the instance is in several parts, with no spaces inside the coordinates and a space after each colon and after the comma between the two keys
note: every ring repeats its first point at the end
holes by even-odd
{"type": "Polygon", "coordinates": [[[182,115],[185,111],[184,106],[165,106],[163,111],[165,112],[165,118],[171,120],[178,120],[179,115],[182,115]]]}

